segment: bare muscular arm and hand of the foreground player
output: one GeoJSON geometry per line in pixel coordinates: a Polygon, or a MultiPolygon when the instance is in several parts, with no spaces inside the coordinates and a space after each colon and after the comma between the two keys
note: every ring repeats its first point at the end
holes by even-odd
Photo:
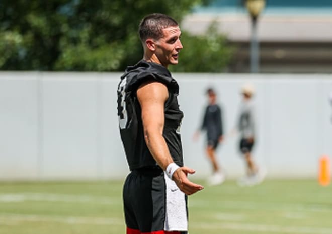
{"type": "MultiPolygon", "coordinates": [[[[147,147],[157,164],[166,170],[173,163],[167,143],[162,136],[164,127],[164,103],[168,99],[168,89],[159,82],[148,82],[137,90],[137,98],[141,105],[144,137],[147,147]]],[[[193,169],[181,167],[173,174],[173,180],[179,189],[191,195],[203,189],[203,186],[188,180],[187,174],[195,173],[193,169]]]]}

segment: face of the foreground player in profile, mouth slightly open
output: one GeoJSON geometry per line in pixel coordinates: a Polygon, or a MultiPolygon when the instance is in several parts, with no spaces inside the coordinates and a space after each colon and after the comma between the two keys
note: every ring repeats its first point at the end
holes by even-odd
{"type": "Polygon", "coordinates": [[[181,30],[179,26],[173,26],[163,29],[162,32],[163,37],[156,41],[154,53],[164,67],[178,64],[179,52],[183,48],[180,41],[181,30]]]}

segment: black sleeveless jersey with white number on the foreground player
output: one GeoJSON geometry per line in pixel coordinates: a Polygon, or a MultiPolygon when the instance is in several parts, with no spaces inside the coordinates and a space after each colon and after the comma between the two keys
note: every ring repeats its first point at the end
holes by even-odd
{"type": "Polygon", "coordinates": [[[179,85],[165,67],[141,60],[127,67],[118,85],[118,119],[120,136],[130,170],[155,167],[144,139],[141,107],[137,100],[138,87],[147,81],[163,83],[168,88],[169,98],[164,104],[163,137],[176,164],[183,166],[180,125],[183,112],[179,109],[179,85]]]}

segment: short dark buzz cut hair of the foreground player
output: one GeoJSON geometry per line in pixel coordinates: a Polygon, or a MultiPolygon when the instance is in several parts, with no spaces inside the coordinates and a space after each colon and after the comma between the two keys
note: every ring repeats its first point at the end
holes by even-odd
{"type": "Polygon", "coordinates": [[[149,14],[145,16],[139,24],[139,39],[143,44],[148,38],[159,40],[163,37],[163,29],[178,25],[178,22],[170,16],[161,13],[149,14]]]}

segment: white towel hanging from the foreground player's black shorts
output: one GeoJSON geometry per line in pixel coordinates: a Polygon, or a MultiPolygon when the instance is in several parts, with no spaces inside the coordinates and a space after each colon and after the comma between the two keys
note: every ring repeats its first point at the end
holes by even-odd
{"type": "Polygon", "coordinates": [[[177,184],[165,174],[166,218],[165,231],[188,231],[185,194],[177,184]]]}

